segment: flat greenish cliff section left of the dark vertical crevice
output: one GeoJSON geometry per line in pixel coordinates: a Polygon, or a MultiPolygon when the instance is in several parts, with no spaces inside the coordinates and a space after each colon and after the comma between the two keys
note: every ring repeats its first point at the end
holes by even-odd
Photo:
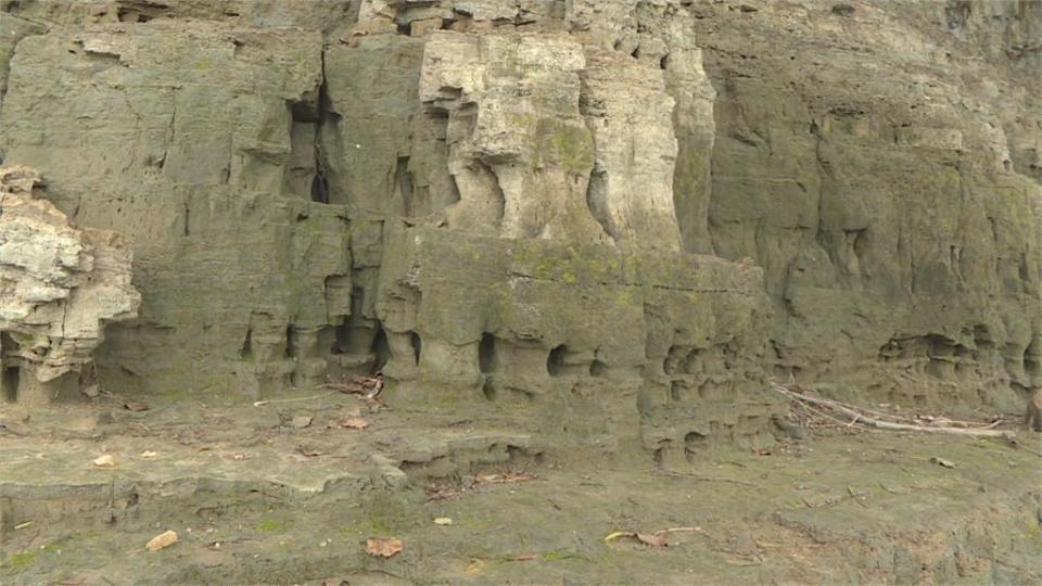
{"type": "Polygon", "coordinates": [[[8,160],[45,169],[77,224],[135,239],[143,304],[99,353],[106,383],[256,394],[320,380],[351,313],[343,207],[312,201],[315,141],[300,139],[321,35],[99,26],[20,43],[0,127],[8,160]]]}

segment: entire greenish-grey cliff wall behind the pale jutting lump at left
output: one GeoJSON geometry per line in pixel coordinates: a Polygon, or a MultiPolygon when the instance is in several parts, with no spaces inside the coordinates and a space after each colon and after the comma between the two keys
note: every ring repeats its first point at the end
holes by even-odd
{"type": "Polygon", "coordinates": [[[1035,2],[0,3],[0,150],[135,241],[103,383],[401,408],[661,459],[765,377],[1042,383],[1035,2]]]}

